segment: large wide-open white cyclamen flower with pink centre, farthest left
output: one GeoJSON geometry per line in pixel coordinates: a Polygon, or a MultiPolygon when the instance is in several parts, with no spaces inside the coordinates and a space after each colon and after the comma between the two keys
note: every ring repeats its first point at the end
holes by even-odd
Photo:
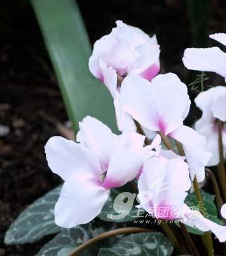
{"type": "Polygon", "coordinates": [[[144,136],[134,131],[115,135],[89,116],[80,129],[78,140],[82,143],[54,136],[45,146],[50,169],[65,181],[54,210],[56,225],[65,228],[93,220],[110,189],[132,181],[144,161],[160,150],[158,136],[152,145],[143,147],[144,136]]]}

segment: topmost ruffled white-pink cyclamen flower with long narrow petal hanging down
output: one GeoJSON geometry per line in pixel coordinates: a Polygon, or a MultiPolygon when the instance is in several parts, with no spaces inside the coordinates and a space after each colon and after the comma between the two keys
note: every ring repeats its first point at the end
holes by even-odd
{"type": "Polygon", "coordinates": [[[150,37],[122,21],[116,21],[116,25],[109,35],[95,42],[89,69],[107,86],[114,99],[119,130],[136,130],[131,116],[121,109],[119,84],[126,75],[139,75],[148,80],[157,75],[160,68],[159,45],[155,35],[150,37]]]}

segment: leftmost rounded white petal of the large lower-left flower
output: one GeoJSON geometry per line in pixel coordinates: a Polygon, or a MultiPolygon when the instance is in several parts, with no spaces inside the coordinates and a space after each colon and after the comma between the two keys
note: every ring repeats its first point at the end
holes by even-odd
{"type": "Polygon", "coordinates": [[[51,171],[63,180],[78,172],[102,174],[99,160],[88,148],[60,136],[51,137],[45,145],[46,159],[51,171]]]}

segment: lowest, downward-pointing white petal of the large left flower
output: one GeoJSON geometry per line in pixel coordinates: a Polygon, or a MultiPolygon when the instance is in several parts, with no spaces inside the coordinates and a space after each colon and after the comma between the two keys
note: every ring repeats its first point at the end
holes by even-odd
{"type": "Polygon", "coordinates": [[[71,175],[63,184],[55,205],[55,222],[64,228],[89,223],[101,211],[109,191],[91,174],[71,175]]]}

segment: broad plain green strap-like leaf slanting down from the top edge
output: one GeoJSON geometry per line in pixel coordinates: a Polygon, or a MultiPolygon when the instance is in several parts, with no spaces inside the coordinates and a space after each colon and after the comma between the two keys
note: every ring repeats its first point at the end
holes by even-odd
{"type": "Polygon", "coordinates": [[[116,132],[113,101],[88,67],[89,38],[74,0],[31,0],[73,130],[90,115],[116,132]]]}

